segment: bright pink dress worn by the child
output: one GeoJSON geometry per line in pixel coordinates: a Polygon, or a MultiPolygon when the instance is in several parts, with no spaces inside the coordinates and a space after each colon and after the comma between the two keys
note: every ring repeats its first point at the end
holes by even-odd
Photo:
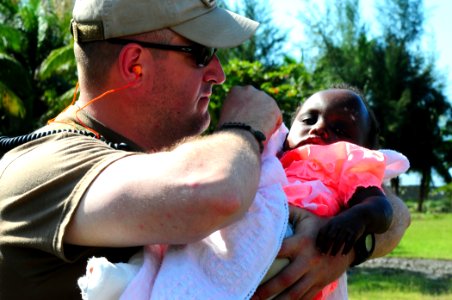
{"type": "MultiPolygon", "coordinates": [[[[319,216],[331,217],[348,207],[355,190],[381,187],[388,167],[388,176],[408,169],[408,160],[391,150],[369,150],[348,142],[330,145],[305,145],[281,157],[289,184],[283,189],[292,205],[305,208],[319,216]],[[399,164],[397,171],[390,164],[399,164]]],[[[326,286],[315,299],[325,299],[337,286],[326,286]]]]}

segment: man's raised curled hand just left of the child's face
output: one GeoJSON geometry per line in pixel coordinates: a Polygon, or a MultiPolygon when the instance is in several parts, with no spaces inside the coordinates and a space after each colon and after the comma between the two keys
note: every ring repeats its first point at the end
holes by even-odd
{"type": "Polygon", "coordinates": [[[252,86],[236,86],[226,97],[218,125],[241,122],[254,130],[262,131],[267,141],[282,123],[281,111],[276,101],[252,86]]]}

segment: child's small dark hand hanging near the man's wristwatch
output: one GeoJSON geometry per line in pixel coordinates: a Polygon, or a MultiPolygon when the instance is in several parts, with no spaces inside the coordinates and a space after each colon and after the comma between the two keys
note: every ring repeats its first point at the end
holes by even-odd
{"type": "Polygon", "coordinates": [[[365,229],[366,225],[360,218],[339,214],[320,228],[316,246],[322,254],[335,256],[342,249],[342,255],[346,255],[365,229]]]}

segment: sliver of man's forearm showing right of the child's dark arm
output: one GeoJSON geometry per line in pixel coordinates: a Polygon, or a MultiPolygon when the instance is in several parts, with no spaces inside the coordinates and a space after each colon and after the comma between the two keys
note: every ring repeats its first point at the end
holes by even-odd
{"type": "Polygon", "coordinates": [[[410,213],[405,203],[390,188],[384,187],[384,191],[392,206],[393,219],[388,231],[375,236],[376,245],[372,258],[381,257],[391,252],[399,244],[411,222],[410,213]]]}

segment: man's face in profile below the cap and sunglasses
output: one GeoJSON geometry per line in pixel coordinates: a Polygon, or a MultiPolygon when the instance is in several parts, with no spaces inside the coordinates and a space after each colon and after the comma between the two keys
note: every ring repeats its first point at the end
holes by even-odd
{"type": "MultiPolygon", "coordinates": [[[[193,42],[179,36],[172,45],[191,45],[193,42]]],[[[153,50],[161,51],[161,50],[153,50]]],[[[225,75],[215,56],[205,67],[198,67],[192,55],[183,52],[165,51],[153,60],[154,76],[147,83],[142,122],[152,124],[144,129],[159,143],[168,146],[182,138],[194,136],[207,129],[210,123],[208,112],[212,87],[221,84],[225,75]]],[[[155,143],[154,143],[155,144],[155,143]]]]}

